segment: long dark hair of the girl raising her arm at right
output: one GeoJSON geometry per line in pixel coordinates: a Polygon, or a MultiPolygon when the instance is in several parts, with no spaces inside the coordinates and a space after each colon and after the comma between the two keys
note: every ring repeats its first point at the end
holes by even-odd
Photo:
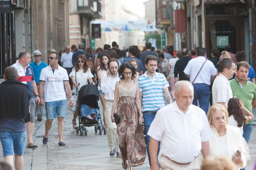
{"type": "Polygon", "coordinates": [[[239,98],[233,97],[228,101],[228,114],[233,115],[237,121],[237,126],[242,127],[246,123],[246,118],[243,110],[240,108],[239,98]]]}

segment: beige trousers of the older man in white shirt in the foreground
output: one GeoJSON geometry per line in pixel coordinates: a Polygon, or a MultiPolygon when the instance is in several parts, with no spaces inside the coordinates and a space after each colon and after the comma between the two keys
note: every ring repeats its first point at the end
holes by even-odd
{"type": "Polygon", "coordinates": [[[160,156],[160,165],[162,166],[162,170],[199,170],[201,168],[201,160],[200,157],[197,156],[190,164],[187,165],[179,165],[164,155],[160,156]]]}

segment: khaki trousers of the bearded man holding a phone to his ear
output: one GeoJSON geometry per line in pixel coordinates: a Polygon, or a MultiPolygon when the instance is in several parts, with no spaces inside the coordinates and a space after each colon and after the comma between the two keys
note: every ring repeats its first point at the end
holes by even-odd
{"type": "Polygon", "coordinates": [[[106,126],[107,126],[107,136],[110,150],[116,148],[116,152],[120,152],[119,149],[119,138],[117,133],[116,124],[111,121],[111,110],[113,101],[106,101],[106,126]]]}

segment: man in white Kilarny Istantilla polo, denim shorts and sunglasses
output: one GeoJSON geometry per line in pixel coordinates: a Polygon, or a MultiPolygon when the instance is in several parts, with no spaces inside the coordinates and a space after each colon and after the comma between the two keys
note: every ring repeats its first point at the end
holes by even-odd
{"type": "Polygon", "coordinates": [[[73,98],[70,85],[68,83],[67,71],[60,67],[58,61],[60,56],[58,53],[52,53],[49,55],[49,66],[42,69],[39,77],[39,95],[40,104],[45,106],[46,110],[46,122],[45,122],[45,136],[43,138],[43,144],[48,142],[49,130],[54,118],[58,119],[58,132],[59,132],[59,146],[66,146],[66,143],[62,141],[64,132],[64,117],[67,116],[67,104],[66,93],[69,97],[69,106],[73,107],[73,98]],[[42,94],[45,92],[45,99],[42,98],[42,94]]]}

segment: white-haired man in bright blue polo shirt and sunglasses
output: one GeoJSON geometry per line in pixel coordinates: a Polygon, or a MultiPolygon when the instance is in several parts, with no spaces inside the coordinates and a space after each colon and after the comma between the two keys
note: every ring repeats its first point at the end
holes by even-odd
{"type": "MultiPolygon", "coordinates": [[[[34,75],[35,75],[35,80],[36,80],[36,85],[37,89],[39,88],[39,76],[41,73],[41,70],[45,67],[47,67],[47,64],[41,60],[41,51],[35,50],[33,53],[33,56],[35,58],[35,62],[30,63],[29,65],[33,68],[34,70],[34,75]]],[[[42,96],[44,99],[44,94],[42,96]]],[[[44,111],[44,106],[41,106],[39,103],[36,105],[36,112],[37,112],[37,120],[41,121],[42,120],[42,114],[44,111]]]]}

